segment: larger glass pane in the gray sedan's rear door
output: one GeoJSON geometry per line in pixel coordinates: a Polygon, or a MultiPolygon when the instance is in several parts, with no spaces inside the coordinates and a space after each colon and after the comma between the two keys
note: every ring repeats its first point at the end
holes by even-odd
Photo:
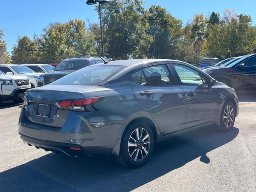
{"type": "Polygon", "coordinates": [[[172,79],[166,65],[154,65],[143,69],[147,86],[170,86],[172,79]]]}

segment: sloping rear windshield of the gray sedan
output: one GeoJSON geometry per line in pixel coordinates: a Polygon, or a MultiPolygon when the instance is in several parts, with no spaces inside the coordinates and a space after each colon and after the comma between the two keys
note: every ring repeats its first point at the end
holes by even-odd
{"type": "Polygon", "coordinates": [[[106,82],[125,66],[88,66],[68,74],[52,84],[99,85],[106,82]]]}

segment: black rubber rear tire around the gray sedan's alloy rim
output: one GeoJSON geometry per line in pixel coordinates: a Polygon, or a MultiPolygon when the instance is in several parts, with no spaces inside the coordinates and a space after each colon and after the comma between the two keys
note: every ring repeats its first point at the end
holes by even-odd
{"type": "Polygon", "coordinates": [[[126,128],[126,130],[125,130],[125,132],[122,136],[121,147],[120,147],[120,156],[121,156],[121,158],[124,161],[124,164],[126,166],[128,166],[128,167],[140,167],[140,166],[143,166],[144,164],[146,164],[146,162],[148,161],[148,159],[152,155],[153,148],[154,148],[154,135],[153,135],[153,132],[152,132],[151,128],[146,123],[135,122],[135,123],[131,124],[130,126],[128,126],[126,128]],[[130,154],[128,152],[128,141],[130,139],[130,135],[132,134],[132,132],[136,128],[144,128],[150,136],[150,149],[148,151],[148,154],[143,160],[138,161],[138,162],[134,161],[130,157],[130,154]]]}

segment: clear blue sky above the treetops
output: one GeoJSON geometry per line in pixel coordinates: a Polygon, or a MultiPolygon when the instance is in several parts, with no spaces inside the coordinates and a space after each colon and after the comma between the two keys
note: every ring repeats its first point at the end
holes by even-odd
{"type": "MultiPolygon", "coordinates": [[[[196,13],[208,15],[214,11],[222,14],[230,9],[252,16],[253,25],[256,25],[256,0],[144,0],[145,8],[152,4],[165,7],[184,24],[196,13]]],[[[86,0],[0,0],[0,29],[4,29],[7,51],[11,54],[18,36],[40,36],[43,28],[52,22],[81,19],[86,23],[88,20],[99,23],[94,8],[94,5],[86,5],[86,0]]]]}

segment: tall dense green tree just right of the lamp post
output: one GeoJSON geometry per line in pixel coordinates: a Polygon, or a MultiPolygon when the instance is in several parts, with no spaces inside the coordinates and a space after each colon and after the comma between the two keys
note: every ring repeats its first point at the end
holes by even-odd
{"type": "Polygon", "coordinates": [[[146,57],[152,37],[145,33],[142,1],[112,0],[102,8],[106,56],[114,60],[146,57]]]}

